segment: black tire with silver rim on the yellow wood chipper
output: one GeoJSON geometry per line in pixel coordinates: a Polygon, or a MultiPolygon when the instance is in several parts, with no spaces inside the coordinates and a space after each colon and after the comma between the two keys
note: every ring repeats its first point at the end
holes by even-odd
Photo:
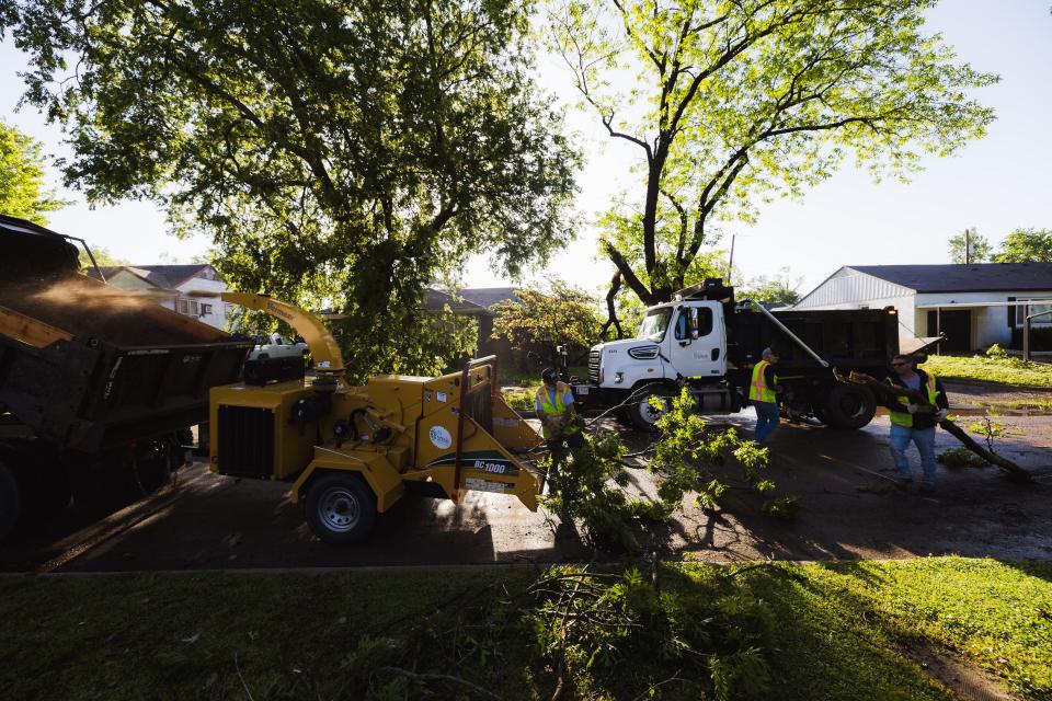
{"type": "Polygon", "coordinates": [[[376,498],[353,474],[327,474],[307,492],[307,525],[320,540],[347,545],[362,540],[376,521],[376,498]]]}

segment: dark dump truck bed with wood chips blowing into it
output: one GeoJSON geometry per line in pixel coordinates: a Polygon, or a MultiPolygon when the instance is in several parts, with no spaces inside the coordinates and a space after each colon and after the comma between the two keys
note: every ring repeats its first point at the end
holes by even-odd
{"type": "Polygon", "coordinates": [[[84,452],[206,421],[252,342],[82,275],[77,256],[0,216],[0,414],[84,452]]]}

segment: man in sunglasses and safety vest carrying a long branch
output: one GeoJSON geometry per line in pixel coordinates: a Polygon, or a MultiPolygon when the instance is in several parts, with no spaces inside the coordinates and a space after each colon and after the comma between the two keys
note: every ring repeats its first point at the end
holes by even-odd
{"type": "Polygon", "coordinates": [[[913,482],[906,448],[912,441],[921,453],[922,492],[935,491],[935,427],[950,414],[942,383],[934,375],[916,368],[916,358],[896,355],[891,361],[892,375],[885,380],[896,388],[906,388],[927,397],[929,405],[911,402],[905,397],[889,401],[891,417],[891,456],[899,469],[899,486],[905,489],[913,482]]]}

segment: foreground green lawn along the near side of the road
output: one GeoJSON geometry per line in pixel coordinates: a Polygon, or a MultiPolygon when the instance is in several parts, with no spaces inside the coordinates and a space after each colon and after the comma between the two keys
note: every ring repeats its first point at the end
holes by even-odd
{"type": "MultiPolygon", "coordinates": [[[[1052,564],[930,558],[742,567],[666,565],[656,581],[663,600],[712,601],[729,617],[743,602],[764,611],[770,685],[758,698],[952,698],[904,656],[919,641],[961,651],[1024,698],[1052,698],[1052,564]]],[[[256,701],[332,699],[341,689],[347,699],[401,699],[407,677],[391,670],[403,669],[418,675],[409,698],[426,687],[433,698],[489,698],[483,689],[549,699],[556,675],[534,645],[538,629],[495,614],[522,602],[538,574],[0,578],[0,688],[9,700],[247,699],[245,687],[256,701]]],[[[571,679],[563,698],[576,689],[579,698],[587,690],[590,699],[631,699],[682,669],[645,651],[614,659],[607,671],[571,679]]],[[[698,698],[675,681],[659,689],[655,698],[698,698]]]]}

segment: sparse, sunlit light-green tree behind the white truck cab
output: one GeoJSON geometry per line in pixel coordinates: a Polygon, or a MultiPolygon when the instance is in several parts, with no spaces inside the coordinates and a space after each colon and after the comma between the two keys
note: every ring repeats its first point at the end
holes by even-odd
{"type": "Polygon", "coordinates": [[[602,246],[645,303],[691,279],[721,226],[846,159],[905,175],[982,136],[995,76],[924,32],[935,0],[563,0],[551,36],[638,187],[602,246]]]}

